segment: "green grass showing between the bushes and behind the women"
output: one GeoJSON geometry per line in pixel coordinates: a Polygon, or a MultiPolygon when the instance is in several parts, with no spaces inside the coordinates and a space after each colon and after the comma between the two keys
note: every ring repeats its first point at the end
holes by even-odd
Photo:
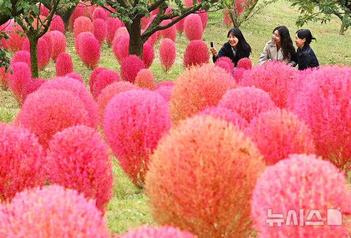
{"type": "MultiPolygon", "coordinates": [[[[254,64],[268,40],[272,37],[272,31],[277,25],[286,25],[290,30],[291,37],[294,38],[297,30],[295,19],[299,15],[298,9],[290,7],[291,2],[278,0],[272,5],[268,5],[259,11],[250,21],[240,26],[244,37],[252,47],[252,55],[250,56],[254,64]]],[[[344,64],[351,66],[351,30],[347,31],[344,36],[339,36],[340,20],[332,18],[327,25],[320,23],[309,23],[304,26],[312,31],[312,35],[317,41],[312,41],[311,47],[321,65],[327,64],[344,64]]],[[[207,28],[203,34],[203,40],[209,43],[211,40],[215,42],[217,50],[226,42],[227,33],[230,27],[226,27],[223,23],[223,15],[221,11],[209,13],[209,21],[207,28]]],[[[72,55],[74,63],[74,71],[79,73],[84,82],[87,84],[92,70],[86,68],[79,57],[75,54],[74,39],[71,32],[65,34],[67,38],[66,52],[72,55]]],[[[176,62],[172,69],[165,73],[159,64],[158,48],[159,42],[154,46],[155,60],[151,66],[156,82],[162,80],[175,80],[183,67],[183,55],[189,40],[182,34],[176,38],[176,62]]],[[[212,60],[210,59],[210,62],[212,60]]],[[[119,64],[111,48],[106,44],[101,47],[100,67],[116,70],[119,73],[119,64]]],[[[55,76],[55,64],[53,61],[39,72],[39,77],[50,79],[55,76]]],[[[0,121],[10,122],[14,115],[19,111],[16,101],[11,96],[10,91],[0,90],[0,121]]],[[[120,234],[126,232],[129,228],[136,228],[143,224],[154,224],[150,216],[145,198],[142,191],[131,183],[126,175],[121,171],[117,162],[114,160],[114,176],[115,188],[113,190],[114,197],[108,204],[106,219],[108,227],[115,233],[120,234]]]]}

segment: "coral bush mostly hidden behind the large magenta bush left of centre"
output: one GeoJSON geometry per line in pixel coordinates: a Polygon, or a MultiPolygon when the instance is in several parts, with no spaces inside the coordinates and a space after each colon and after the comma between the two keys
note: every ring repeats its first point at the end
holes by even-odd
{"type": "Polygon", "coordinates": [[[105,108],[110,100],[120,92],[137,90],[139,87],[128,81],[116,81],[106,86],[101,93],[98,95],[98,111],[100,115],[100,122],[103,120],[103,114],[105,113],[105,108]]]}

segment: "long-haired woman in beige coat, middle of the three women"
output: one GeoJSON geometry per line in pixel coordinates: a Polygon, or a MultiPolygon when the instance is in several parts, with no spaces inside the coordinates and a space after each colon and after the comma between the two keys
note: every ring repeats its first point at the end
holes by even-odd
{"type": "Polygon", "coordinates": [[[257,64],[275,60],[294,67],[296,65],[295,55],[295,48],[292,45],[288,28],[277,26],[273,30],[272,39],[266,43],[257,64]]]}

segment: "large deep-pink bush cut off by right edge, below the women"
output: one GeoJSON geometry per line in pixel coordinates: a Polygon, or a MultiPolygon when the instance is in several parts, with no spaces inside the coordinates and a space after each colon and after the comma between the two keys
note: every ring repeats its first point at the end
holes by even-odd
{"type": "Polygon", "coordinates": [[[351,170],[351,68],[326,66],[312,71],[296,96],[293,111],[311,128],[317,155],[351,170]]]}

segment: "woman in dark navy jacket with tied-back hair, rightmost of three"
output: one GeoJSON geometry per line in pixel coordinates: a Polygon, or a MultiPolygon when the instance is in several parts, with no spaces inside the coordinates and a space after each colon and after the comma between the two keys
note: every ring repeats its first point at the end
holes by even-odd
{"type": "Polygon", "coordinates": [[[310,43],[312,37],[310,30],[301,29],[296,32],[295,35],[295,44],[298,47],[296,51],[297,63],[299,70],[305,70],[307,68],[318,67],[319,63],[317,57],[311,49],[310,43]]]}

